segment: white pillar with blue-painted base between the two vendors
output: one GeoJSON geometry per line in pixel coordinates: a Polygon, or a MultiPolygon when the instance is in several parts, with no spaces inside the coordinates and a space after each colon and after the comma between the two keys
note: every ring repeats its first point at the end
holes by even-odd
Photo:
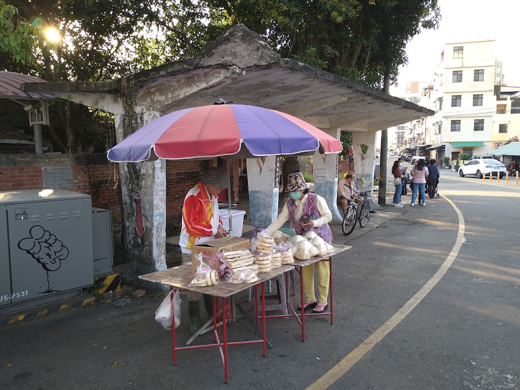
{"type": "Polygon", "coordinates": [[[278,159],[247,159],[251,225],[266,228],[278,216],[278,159]]]}

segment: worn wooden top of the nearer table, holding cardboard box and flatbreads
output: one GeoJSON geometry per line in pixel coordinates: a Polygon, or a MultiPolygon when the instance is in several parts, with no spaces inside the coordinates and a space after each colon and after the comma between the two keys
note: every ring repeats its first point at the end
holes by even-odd
{"type": "Polygon", "coordinates": [[[220,279],[220,283],[204,287],[189,287],[193,274],[191,272],[191,264],[183,264],[177,267],[168,268],[162,271],[152,272],[151,274],[141,275],[139,279],[147,280],[149,282],[157,282],[169,285],[175,289],[196,291],[213,296],[229,297],[242,290],[253,287],[255,284],[265,282],[269,279],[275,278],[284,272],[294,269],[291,264],[282,264],[280,268],[275,268],[269,272],[258,272],[258,281],[255,283],[226,283],[224,279],[220,279]]]}

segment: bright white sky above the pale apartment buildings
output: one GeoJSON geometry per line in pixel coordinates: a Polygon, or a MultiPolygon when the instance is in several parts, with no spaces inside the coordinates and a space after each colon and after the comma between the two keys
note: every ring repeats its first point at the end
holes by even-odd
{"type": "Polygon", "coordinates": [[[391,95],[401,96],[407,81],[430,82],[444,44],[479,38],[497,41],[505,82],[520,86],[520,0],[438,0],[438,5],[439,28],[408,43],[408,65],[400,68],[399,85],[391,86],[391,95]]]}

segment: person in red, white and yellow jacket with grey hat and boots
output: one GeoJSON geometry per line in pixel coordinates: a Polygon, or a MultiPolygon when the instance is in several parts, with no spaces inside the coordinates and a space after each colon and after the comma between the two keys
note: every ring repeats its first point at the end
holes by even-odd
{"type": "MultiPolygon", "coordinates": [[[[184,198],[179,245],[182,262],[191,262],[191,246],[227,236],[218,216],[217,194],[227,188],[227,173],[223,168],[210,168],[201,181],[184,198]]],[[[188,291],[190,332],[200,329],[201,293],[188,291]]],[[[213,316],[213,297],[203,294],[208,317],[213,316]]]]}

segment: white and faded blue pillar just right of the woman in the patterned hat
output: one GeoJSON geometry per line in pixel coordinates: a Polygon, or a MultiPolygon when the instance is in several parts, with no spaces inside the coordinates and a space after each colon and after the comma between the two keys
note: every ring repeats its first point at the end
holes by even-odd
{"type": "Polygon", "coordinates": [[[337,153],[313,156],[314,192],[325,198],[332,212],[332,223],[341,223],[343,214],[337,207],[337,153]]]}

